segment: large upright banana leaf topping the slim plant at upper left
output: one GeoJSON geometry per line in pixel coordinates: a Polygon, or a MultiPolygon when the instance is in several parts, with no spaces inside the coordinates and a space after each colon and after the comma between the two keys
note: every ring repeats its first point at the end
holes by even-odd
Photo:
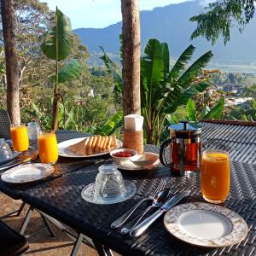
{"type": "Polygon", "coordinates": [[[56,59],[56,39],[58,41],[58,61],[64,60],[72,48],[72,27],[69,18],[56,9],[57,23],[43,35],[41,49],[49,59],[56,59]],[[56,33],[57,28],[57,33],[56,33]]]}

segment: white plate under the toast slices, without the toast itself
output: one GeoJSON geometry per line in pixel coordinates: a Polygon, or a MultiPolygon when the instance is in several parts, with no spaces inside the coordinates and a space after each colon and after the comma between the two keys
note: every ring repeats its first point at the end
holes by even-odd
{"type": "MultiPolygon", "coordinates": [[[[108,154],[110,151],[104,151],[101,153],[96,153],[96,154],[87,154],[87,155],[82,155],[82,154],[76,154],[73,151],[68,149],[68,146],[71,146],[73,144],[79,143],[84,140],[85,137],[78,137],[75,139],[71,139],[62,143],[58,144],[58,150],[59,150],[59,155],[64,156],[64,157],[77,157],[77,158],[87,158],[87,157],[92,157],[92,156],[97,156],[97,155],[102,155],[102,154],[108,154]]],[[[122,147],[122,142],[120,140],[117,140],[119,145],[117,148],[122,147]]]]}

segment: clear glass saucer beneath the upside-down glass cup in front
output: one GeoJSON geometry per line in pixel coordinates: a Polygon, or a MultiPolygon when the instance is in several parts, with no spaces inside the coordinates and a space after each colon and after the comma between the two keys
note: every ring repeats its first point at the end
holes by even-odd
{"type": "Polygon", "coordinates": [[[95,183],[90,183],[88,186],[86,186],[82,190],[81,195],[85,201],[88,201],[90,203],[97,204],[97,205],[110,205],[110,204],[119,203],[121,201],[126,201],[130,199],[133,195],[135,195],[137,189],[134,183],[127,180],[125,180],[124,182],[125,182],[125,193],[123,195],[104,198],[104,200],[101,198],[95,197],[94,196],[95,183]]]}

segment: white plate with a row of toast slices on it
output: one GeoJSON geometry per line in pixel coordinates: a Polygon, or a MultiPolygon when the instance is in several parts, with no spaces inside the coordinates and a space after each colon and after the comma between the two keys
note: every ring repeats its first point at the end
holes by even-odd
{"type": "Polygon", "coordinates": [[[59,155],[64,157],[86,158],[108,154],[122,147],[122,142],[111,136],[78,137],[58,144],[59,155]]]}

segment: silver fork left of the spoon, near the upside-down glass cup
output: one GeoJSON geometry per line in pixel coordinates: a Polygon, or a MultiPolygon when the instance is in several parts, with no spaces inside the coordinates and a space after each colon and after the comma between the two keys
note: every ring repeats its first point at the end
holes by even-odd
{"type": "Polygon", "coordinates": [[[148,201],[148,200],[153,200],[154,196],[157,195],[160,190],[164,189],[166,186],[166,180],[160,180],[160,183],[158,184],[158,186],[156,187],[156,189],[154,189],[154,192],[152,195],[149,195],[146,198],[143,198],[143,200],[139,201],[134,207],[132,207],[128,212],[125,212],[124,215],[122,215],[121,217],[119,217],[118,219],[116,219],[112,224],[111,224],[111,228],[116,229],[119,228],[120,225],[124,224],[125,221],[130,218],[131,214],[133,212],[135,212],[135,210],[137,209],[137,207],[139,207],[143,201],[148,201]]]}

